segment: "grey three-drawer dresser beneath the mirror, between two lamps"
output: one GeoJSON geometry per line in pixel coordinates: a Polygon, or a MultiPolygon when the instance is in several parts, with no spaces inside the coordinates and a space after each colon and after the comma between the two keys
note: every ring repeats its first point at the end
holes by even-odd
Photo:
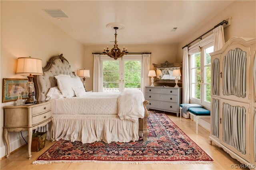
{"type": "Polygon", "coordinates": [[[147,86],[145,99],[149,104],[147,108],[176,113],[180,113],[182,103],[182,88],[147,86]]]}

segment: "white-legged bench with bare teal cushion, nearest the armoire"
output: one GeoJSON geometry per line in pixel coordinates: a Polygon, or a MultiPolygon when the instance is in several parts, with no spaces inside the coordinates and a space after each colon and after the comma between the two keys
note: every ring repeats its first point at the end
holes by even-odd
{"type": "MultiPolygon", "coordinates": [[[[184,104],[180,105],[180,114],[182,114],[182,107],[184,104]]],[[[210,117],[210,111],[207,109],[204,109],[203,107],[190,107],[187,111],[190,115],[194,117],[194,120],[196,121],[196,134],[198,133],[198,119],[202,117],[210,117]]],[[[181,119],[181,115],[180,115],[181,119]]]]}

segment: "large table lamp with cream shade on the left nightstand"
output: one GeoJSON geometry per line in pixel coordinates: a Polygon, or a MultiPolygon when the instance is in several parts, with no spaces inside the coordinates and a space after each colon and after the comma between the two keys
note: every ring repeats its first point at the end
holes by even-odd
{"type": "Polygon", "coordinates": [[[19,57],[18,58],[18,66],[16,74],[20,75],[27,75],[28,82],[27,82],[27,88],[28,88],[28,99],[26,100],[25,104],[32,104],[35,103],[34,98],[32,97],[32,91],[34,89],[34,82],[33,82],[33,75],[42,75],[42,60],[41,59],[35,59],[32,57],[19,57]]]}

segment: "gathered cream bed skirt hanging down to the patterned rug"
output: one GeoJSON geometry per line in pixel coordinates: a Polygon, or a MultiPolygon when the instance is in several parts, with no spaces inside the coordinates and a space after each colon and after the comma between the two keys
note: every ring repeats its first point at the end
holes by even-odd
{"type": "MultiPolygon", "coordinates": [[[[118,115],[53,115],[53,139],[92,143],[130,142],[139,139],[139,124],[118,115]]],[[[49,123],[50,124],[50,123],[49,123]]],[[[48,129],[50,125],[46,127],[48,129]]],[[[43,129],[40,129],[42,131],[43,129]]],[[[49,131],[48,131],[49,132],[49,131]]],[[[50,139],[48,134],[47,139],[50,139]]]]}

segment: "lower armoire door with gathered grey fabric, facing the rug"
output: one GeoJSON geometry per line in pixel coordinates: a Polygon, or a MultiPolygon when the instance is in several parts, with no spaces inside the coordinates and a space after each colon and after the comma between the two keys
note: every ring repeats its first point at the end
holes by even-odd
{"type": "Polygon", "coordinates": [[[249,104],[220,100],[220,143],[245,160],[250,153],[249,111],[249,104]]]}

